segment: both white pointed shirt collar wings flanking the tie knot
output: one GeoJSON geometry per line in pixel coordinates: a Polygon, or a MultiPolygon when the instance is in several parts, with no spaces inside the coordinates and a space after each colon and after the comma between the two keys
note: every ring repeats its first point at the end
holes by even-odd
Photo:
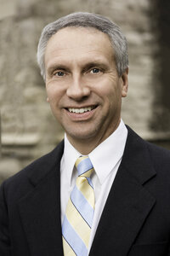
{"type": "MultiPolygon", "coordinates": [[[[127,128],[121,120],[120,125],[117,127],[110,137],[103,143],[100,143],[97,148],[88,154],[94,170],[99,177],[99,183],[104,183],[105,178],[113,170],[114,166],[122,159],[122,154],[127,140],[127,128]]],[[[68,180],[71,183],[72,172],[75,162],[81,154],[74,148],[68,141],[65,135],[65,149],[64,149],[64,163],[65,172],[68,180]]]]}

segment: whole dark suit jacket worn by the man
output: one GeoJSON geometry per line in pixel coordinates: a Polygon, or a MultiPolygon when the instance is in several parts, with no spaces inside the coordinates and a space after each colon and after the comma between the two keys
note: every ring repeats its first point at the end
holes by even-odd
{"type": "MultiPolygon", "coordinates": [[[[1,256],[63,255],[59,195],[63,148],[62,142],[1,186],[1,256]]],[[[169,242],[170,152],[144,142],[128,128],[122,163],[89,255],[166,256],[169,242]]]]}

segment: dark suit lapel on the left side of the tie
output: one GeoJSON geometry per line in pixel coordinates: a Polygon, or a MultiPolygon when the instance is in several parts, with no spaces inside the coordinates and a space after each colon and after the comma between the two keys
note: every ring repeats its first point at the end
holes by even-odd
{"type": "Polygon", "coordinates": [[[60,158],[63,144],[34,169],[32,190],[19,203],[20,217],[31,255],[62,255],[60,223],[60,158]]]}

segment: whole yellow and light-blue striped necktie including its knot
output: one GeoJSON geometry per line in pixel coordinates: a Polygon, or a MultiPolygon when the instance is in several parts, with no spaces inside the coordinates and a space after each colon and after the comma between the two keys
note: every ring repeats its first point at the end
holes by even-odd
{"type": "Polygon", "coordinates": [[[91,174],[94,171],[88,156],[76,161],[78,177],[68,201],[62,224],[65,256],[87,256],[88,242],[94,218],[94,187],[91,174]]]}

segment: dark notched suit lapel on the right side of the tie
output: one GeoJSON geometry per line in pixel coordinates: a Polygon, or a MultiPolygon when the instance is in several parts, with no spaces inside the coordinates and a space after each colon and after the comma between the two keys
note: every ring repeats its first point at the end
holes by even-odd
{"type": "Polygon", "coordinates": [[[156,202],[144,188],[156,175],[146,143],[128,129],[122,164],[94,237],[90,256],[127,255],[156,202]]]}

